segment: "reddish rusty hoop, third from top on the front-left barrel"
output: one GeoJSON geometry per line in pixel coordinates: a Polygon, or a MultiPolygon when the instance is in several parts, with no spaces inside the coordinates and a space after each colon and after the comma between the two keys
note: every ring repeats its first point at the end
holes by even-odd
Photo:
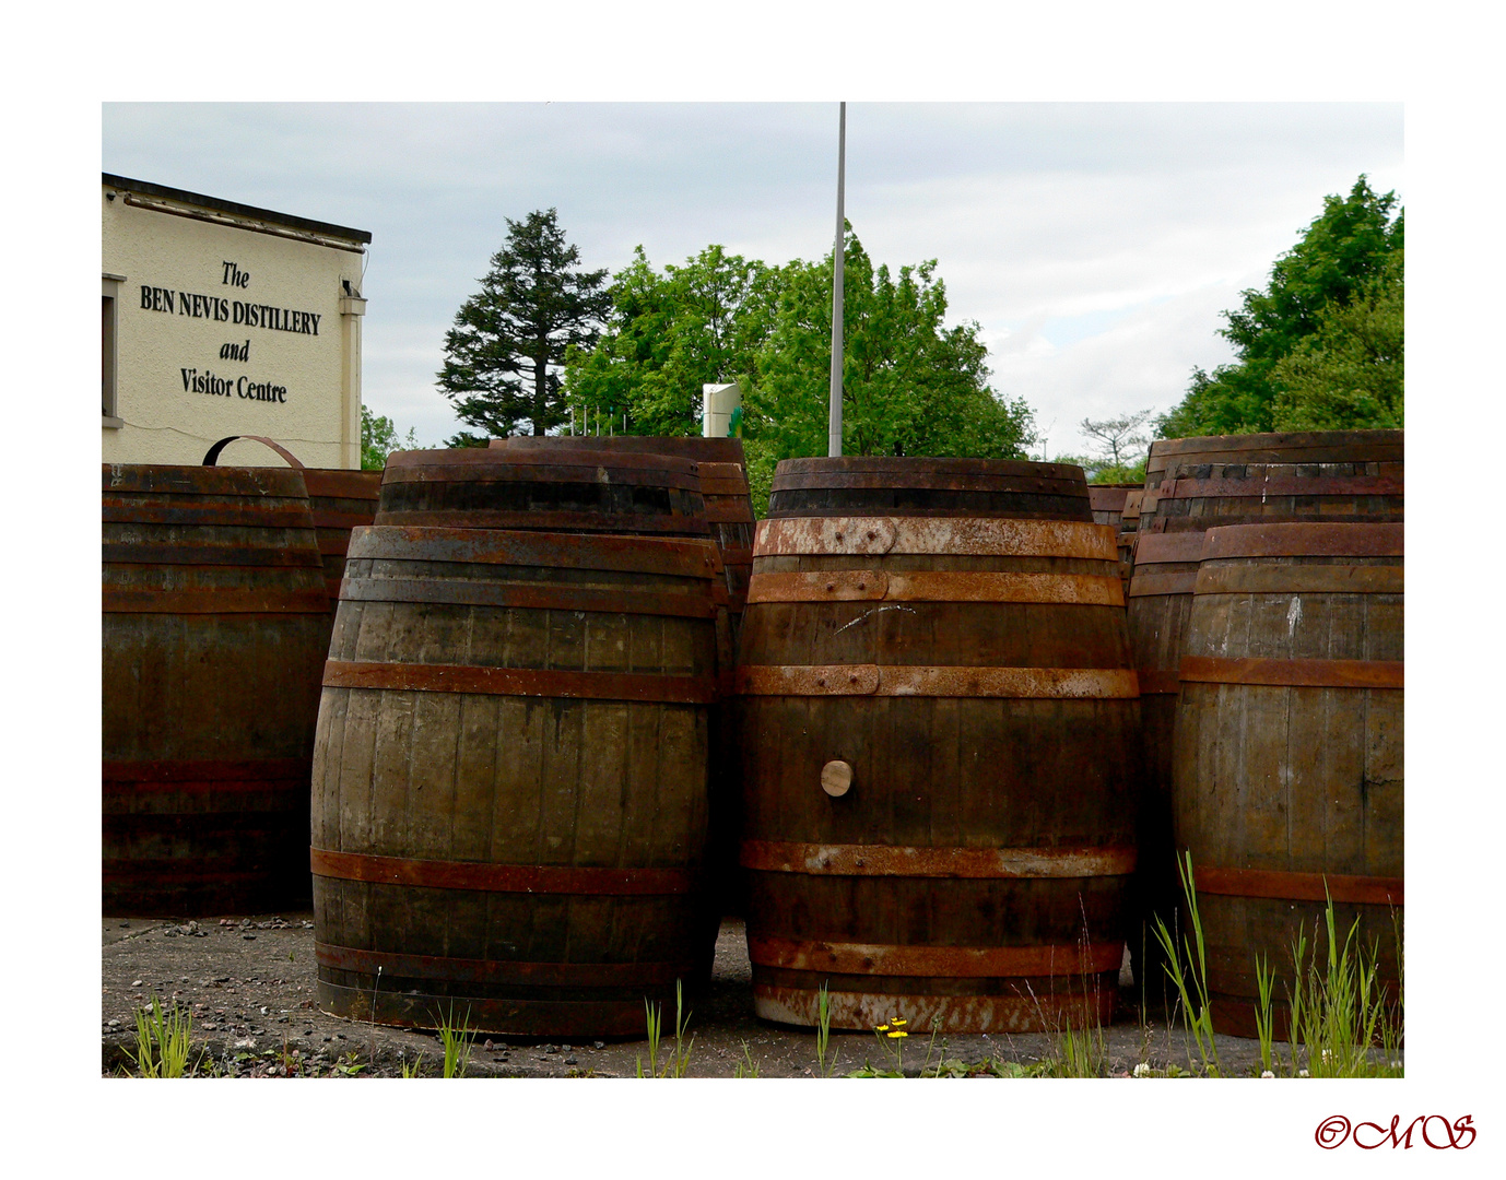
{"type": "Polygon", "coordinates": [[[325,688],[384,688],[405,692],[474,692],[488,697],[571,697],[580,700],[709,704],[714,676],[655,676],[630,671],[491,668],[474,664],[383,664],[330,659],[325,688]]]}

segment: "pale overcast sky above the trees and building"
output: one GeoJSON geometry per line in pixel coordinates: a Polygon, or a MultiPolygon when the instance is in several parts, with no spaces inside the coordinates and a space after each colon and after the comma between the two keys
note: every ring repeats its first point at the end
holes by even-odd
{"type": "MultiPolygon", "coordinates": [[[[506,236],[556,206],[583,265],[703,247],[815,259],[836,104],[116,104],[102,167],[370,230],[366,403],[437,444],[444,331],[506,236]]],[[[846,215],[892,268],[937,259],[994,388],[1051,455],[1084,417],[1170,408],[1330,193],[1402,178],[1401,104],[848,105],[846,215]]]]}

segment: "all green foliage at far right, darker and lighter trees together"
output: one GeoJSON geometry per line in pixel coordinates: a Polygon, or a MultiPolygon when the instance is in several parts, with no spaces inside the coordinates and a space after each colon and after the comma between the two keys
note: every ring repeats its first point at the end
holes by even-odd
{"type": "MultiPolygon", "coordinates": [[[[1157,433],[1163,438],[1250,433],[1286,429],[1280,423],[1297,420],[1307,423],[1304,429],[1399,426],[1402,250],[1404,214],[1396,209],[1395,193],[1376,196],[1360,176],[1348,197],[1324,197],[1322,214],[1298,244],[1276,260],[1265,289],[1242,292],[1242,306],[1224,313],[1227,327],[1218,334],[1235,346],[1238,361],[1221,364],[1212,373],[1194,369],[1187,396],[1160,418],[1157,433]],[[1395,297],[1396,364],[1389,370],[1395,375],[1395,397],[1367,402],[1319,396],[1313,382],[1336,376],[1331,366],[1339,364],[1340,357],[1349,357],[1345,364],[1351,366],[1357,358],[1352,342],[1345,343],[1340,337],[1358,328],[1361,321],[1367,322],[1367,315],[1346,316],[1345,309],[1373,301],[1383,292],[1386,298],[1395,297]],[[1315,337],[1324,331],[1325,343],[1319,346],[1315,337]],[[1315,348],[1328,358],[1330,367],[1315,364],[1315,348]],[[1304,360],[1291,360],[1298,355],[1304,360]],[[1291,384],[1298,373],[1306,373],[1303,394],[1291,384]],[[1303,409],[1297,408],[1298,402],[1303,409]],[[1395,423],[1386,409],[1392,403],[1395,423]]],[[[1373,334],[1376,328],[1370,325],[1367,331],[1373,334]]],[[[1352,367],[1346,372],[1352,379],[1352,367]]],[[[1386,384],[1375,375],[1366,376],[1366,381],[1375,379],[1386,384]]]]}

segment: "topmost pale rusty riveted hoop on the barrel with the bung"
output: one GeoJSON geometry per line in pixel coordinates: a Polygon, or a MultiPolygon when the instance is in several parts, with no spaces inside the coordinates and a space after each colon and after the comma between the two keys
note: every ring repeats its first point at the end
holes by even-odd
{"type": "Polygon", "coordinates": [[[755,557],[929,554],[1116,561],[1114,531],[1084,521],[991,516],[801,516],[759,521],[755,557]]]}

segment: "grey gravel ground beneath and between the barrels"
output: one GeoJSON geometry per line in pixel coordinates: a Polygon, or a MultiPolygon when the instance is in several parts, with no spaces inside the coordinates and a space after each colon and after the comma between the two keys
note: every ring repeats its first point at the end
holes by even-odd
{"type": "MultiPolygon", "coordinates": [[[[102,1072],[130,1069],[139,1007],[152,996],[176,1001],[193,1011],[194,1057],[224,1076],[399,1076],[405,1063],[422,1058],[420,1072],[437,1073],[443,1060],[438,1037],[327,1016],[315,1007],[313,915],[280,914],[253,918],[160,921],[104,918],[101,1036],[102,1072]]],[[[1128,981],[1128,977],[1125,977],[1128,981]]],[[[1130,989],[1120,989],[1113,1025],[1104,1029],[1110,1078],[1130,1078],[1145,1063],[1164,1073],[1169,1066],[1191,1070],[1185,1037],[1164,1020],[1142,1023],[1130,989]]],[[[666,1025],[672,1013],[666,1013],[666,1025]]],[[[691,1011],[694,1045],[690,1076],[733,1078],[758,1070],[761,1078],[816,1076],[815,1034],[753,1016],[751,974],[742,923],[723,923],[711,990],[691,1011]]],[[[905,1072],[916,1073],[928,1048],[931,1061],[955,1063],[958,1076],[1008,1073],[1003,1063],[1029,1067],[1051,1052],[1051,1039],[1027,1036],[949,1036],[928,1046],[908,1042],[905,1072]],[[1001,1070],[979,1069],[998,1063],[1001,1070]]],[[[872,1034],[833,1032],[836,1073],[884,1061],[886,1049],[872,1034]]],[[[1258,1073],[1259,1046],[1220,1037],[1224,1072],[1258,1073]]],[[[666,1057],[661,1045],[660,1060],[666,1057]]],[[[642,1039],[548,1043],[524,1039],[477,1042],[467,1076],[474,1078],[633,1078],[646,1061],[642,1039]]]]}

